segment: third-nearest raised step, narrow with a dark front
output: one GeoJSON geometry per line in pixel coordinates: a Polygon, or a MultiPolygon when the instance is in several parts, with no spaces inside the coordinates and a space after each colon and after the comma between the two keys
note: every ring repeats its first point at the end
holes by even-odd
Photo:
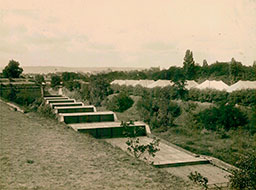
{"type": "Polygon", "coordinates": [[[54,112],[59,113],[84,113],[96,112],[95,106],[69,106],[69,107],[55,107],[54,112]]]}

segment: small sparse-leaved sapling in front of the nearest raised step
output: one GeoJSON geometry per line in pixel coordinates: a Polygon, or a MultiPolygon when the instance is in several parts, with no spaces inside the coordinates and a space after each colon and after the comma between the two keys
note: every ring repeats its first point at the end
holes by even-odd
{"type": "Polygon", "coordinates": [[[154,162],[151,161],[152,158],[154,158],[156,153],[160,151],[160,139],[154,137],[153,141],[149,144],[141,144],[140,139],[137,137],[138,131],[129,127],[131,124],[134,124],[133,121],[121,123],[121,126],[124,127],[123,134],[128,137],[128,140],[126,141],[126,144],[128,145],[127,150],[132,153],[135,158],[139,159],[143,157],[145,161],[153,164],[154,162]]]}

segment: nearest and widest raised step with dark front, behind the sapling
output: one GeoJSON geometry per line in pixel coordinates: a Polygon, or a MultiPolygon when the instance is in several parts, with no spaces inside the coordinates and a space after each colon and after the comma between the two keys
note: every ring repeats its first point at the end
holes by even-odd
{"type": "MultiPolygon", "coordinates": [[[[121,122],[95,122],[95,123],[76,123],[69,124],[75,131],[89,133],[95,138],[118,138],[124,137],[125,130],[121,122]]],[[[135,122],[128,126],[130,132],[136,132],[137,136],[146,136],[149,130],[143,122],[135,122]]]]}

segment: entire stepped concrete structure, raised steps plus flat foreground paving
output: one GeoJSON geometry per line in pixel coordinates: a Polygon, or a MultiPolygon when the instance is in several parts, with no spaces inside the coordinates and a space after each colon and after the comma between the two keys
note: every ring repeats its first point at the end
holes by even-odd
{"type": "MultiPolygon", "coordinates": [[[[114,112],[97,112],[94,106],[85,106],[82,102],[76,102],[68,97],[51,96],[44,97],[44,99],[46,104],[51,106],[60,122],[66,123],[75,131],[89,133],[95,138],[104,138],[113,146],[127,151],[124,127],[117,120],[114,112]]],[[[150,128],[145,123],[134,122],[128,127],[129,130],[139,136],[140,143],[149,144],[152,142],[150,128]]],[[[229,173],[211,164],[212,160],[195,155],[162,139],[159,148],[160,151],[153,158],[155,167],[163,168],[184,179],[191,171],[208,175],[207,170],[210,169],[209,184],[227,184],[228,180],[225,175],[229,173]]]]}

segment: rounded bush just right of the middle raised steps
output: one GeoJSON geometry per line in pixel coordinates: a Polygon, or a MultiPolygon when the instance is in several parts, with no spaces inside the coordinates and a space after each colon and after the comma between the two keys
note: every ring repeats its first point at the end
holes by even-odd
{"type": "Polygon", "coordinates": [[[116,96],[113,96],[107,102],[107,109],[117,112],[123,112],[132,107],[134,101],[125,92],[121,92],[116,96]]]}

